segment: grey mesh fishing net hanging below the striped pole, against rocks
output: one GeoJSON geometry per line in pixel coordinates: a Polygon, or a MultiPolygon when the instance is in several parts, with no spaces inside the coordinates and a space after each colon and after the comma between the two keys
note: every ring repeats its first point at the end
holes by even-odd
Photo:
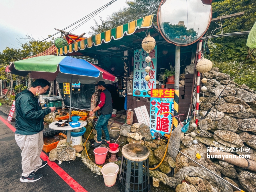
{"type": "Polygon", "coordinates": [[[181,124],[178,124],[178,126],[173,130],[168,145],[168,153],[174,160],[178,155],[178,151],[175,150],[174,148],[179,149],[180,146],[181,128],[181,124]]]}

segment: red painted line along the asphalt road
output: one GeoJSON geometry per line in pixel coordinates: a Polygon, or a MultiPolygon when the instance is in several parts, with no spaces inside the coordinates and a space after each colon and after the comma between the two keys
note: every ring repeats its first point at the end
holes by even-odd
{"type": "MultiPolygon", "coordinates": [[[[0,116],[0,120],[4,124],[6,124],[13,132],[16,131],[16,129],[1,116],[0,116]]],[[[48,156],[44,152],[41,152],[40,157],[44,161],[47,161],[48,162],[47,164],[55,171],[55,173],[57,173],[74,191],[88,192],[79,183],[77,183],[76,180],[70,177],[69,174],[67,174],[59,165],[57,165],[55,162],[50,161],[48,156]]]]}

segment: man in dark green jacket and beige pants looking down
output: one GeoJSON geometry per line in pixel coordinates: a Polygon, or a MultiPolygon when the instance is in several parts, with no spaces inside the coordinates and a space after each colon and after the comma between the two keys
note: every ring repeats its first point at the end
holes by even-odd
{"type": "Polygon", "coordinates": [[[15,107],[15,140],[22,150],[22,177],[20,181],[34,182],[41,179],[43,174],[36,171],[47,164],[40,159],[44,146],[43,132],[44,116],[56,110],[55,107],[42,109],[39,95],[49,89],[50,83],[45,79],[37,79],[29,90],[16,95],[15,107]]]}

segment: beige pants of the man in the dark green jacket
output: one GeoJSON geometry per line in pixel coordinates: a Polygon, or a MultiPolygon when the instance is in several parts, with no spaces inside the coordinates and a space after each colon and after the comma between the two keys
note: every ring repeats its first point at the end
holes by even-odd
{"type": "Polygon", "coordinates": [[[40,154],[44,146],[43,132],[34,135],[15,134],[15,140],[22,150],[22,176],[27,177],[42,165],[40,154]]]}

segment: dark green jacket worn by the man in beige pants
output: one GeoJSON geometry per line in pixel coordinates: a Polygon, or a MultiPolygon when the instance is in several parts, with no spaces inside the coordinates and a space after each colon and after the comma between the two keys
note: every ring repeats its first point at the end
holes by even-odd
{"type": "Polygon", "coordinates": [[[44,116],[49,114],[51,109],[42,109],[38,102],[38,99],[29,90],[24,90],[16,95],[16,134],[34,135],[44,129],[44,116]]]}

